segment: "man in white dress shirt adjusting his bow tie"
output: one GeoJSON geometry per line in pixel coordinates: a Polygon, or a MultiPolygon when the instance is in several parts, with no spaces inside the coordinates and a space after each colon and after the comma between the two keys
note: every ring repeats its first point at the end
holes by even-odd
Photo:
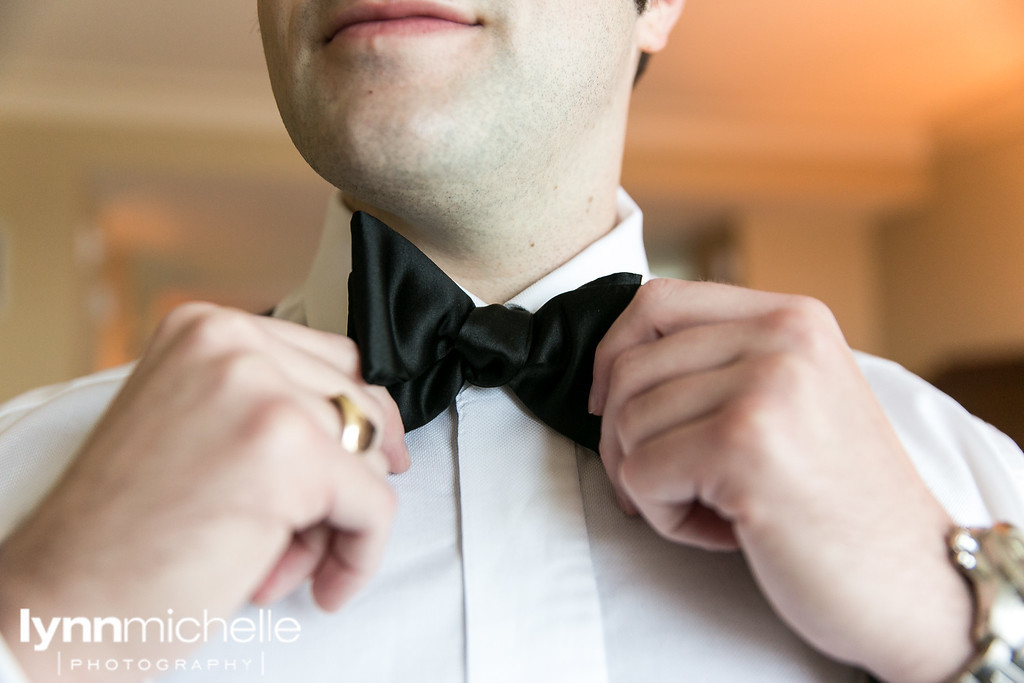
{"type": "Polygon", "coordinates": [[[275,317],[185,306],[127,380],[5,410],[8,666],[34,681],[163,673],[143,661],[172,663],[168,680],[961,671],[972,601],[944,539],[953,518],[1024,519],[1024,461],[924,383],[854,356],[817,302],[644,285],[593,360],[600,459],[503,386],[467,383],[403,438],[389,393],[360,377],[371,349],[340,336],[352,211],[479,305],[537,311],[646,274],[639,212],[616,189],[627,109],[682,5],[260,0],[286,125],[342,200],[275,317]],[[365,452],[340,444],[360,413],[377,428],[365,452]],[[73,630],[60,664],[34,647],[57,617],[262,625],[250,601],[301,638],[73,630]]]}

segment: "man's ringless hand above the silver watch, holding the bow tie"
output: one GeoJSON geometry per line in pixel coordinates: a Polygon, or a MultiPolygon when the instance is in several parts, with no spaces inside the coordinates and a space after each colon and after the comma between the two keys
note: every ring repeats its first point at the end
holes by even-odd
{"type": "Polygon", "coordinates": [[[967,661],[951,521],[824,305],[653,281],[598,347],[591,398],[624,507],[672,541],[741,549],[809,643],[893,681],[967,661]]]}

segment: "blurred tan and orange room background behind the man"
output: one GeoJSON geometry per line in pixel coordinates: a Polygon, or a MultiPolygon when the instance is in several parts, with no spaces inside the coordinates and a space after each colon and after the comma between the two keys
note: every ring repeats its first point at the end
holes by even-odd
{"type": "MultiPolygon", "coordinates": [[[[816,296],[1024,439],[1021,0],[689,0],[624,184],[655,271],[816,296]]],[[[330,194],[254,0],[0,0],[0,400],[269,308],[330,194]]]]}

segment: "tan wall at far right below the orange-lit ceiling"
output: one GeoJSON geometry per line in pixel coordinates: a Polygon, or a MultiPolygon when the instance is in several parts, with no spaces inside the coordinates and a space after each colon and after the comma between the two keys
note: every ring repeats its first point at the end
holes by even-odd
{"type": "Polygon", "coordinates": [[[942,126],[932,197],[879,232],[886,348],[925,376],[1024,353],[1024,96],[1013,99],[942,126]]]}

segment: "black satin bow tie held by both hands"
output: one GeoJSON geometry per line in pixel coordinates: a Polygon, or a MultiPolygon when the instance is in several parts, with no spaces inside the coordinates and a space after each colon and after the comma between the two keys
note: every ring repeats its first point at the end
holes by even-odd
{"type": "Polygon", "coordinates": [[[362,377],[387,387],[406,431],[433,420],[465,382],[508,384],[541,420],[597,451],[600,418],[587,401],[594,350],[633,299],[640,275],[620,272],[560,294],[537,313],[476,307],[403,237],[352,216],[348,336],[362,377]]]}

